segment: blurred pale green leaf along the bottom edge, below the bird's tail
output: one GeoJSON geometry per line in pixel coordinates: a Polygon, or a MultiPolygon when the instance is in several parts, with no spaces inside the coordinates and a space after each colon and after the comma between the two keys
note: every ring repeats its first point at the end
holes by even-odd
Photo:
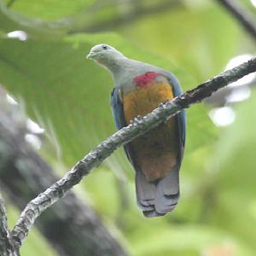
{"type": "Polygon", "coordinates": [[[227,232],[207,226],[189,225],[178,226],[154,225],[154,232],[141,229],[131,238],[135,255],[220,255],[221,251],[229,251],[232,255],[253,255],[240,239],[230,236],[227,232]],[[145,236],[147,234],[148,236],[145,236]],[[149,235],[150,234],[150,235],[149,235]],[[215,252],[216,254],[210,254],[215,252]]]}

